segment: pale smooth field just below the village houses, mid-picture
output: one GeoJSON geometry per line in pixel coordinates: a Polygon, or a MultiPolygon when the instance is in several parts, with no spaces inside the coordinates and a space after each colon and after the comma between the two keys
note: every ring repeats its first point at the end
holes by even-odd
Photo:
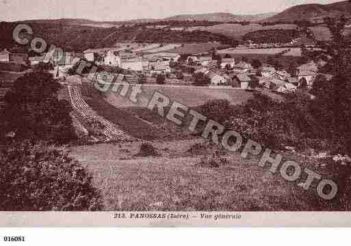
{"type": "Polygon", "coordinates": [[[146,107],[155,91],[167,96],[171,101],[178,101],[187,107],[196,107],[213,99],[228,99],[233,104],[242,103],[252,96],[252,93],[244,90],[211,89],[196,86],[142,86],[142,93],[138,97],[138,103],[132,103],[127,95],[120,97],[116,93],[107,93],[106,100],[116,108],[146,107]]]}

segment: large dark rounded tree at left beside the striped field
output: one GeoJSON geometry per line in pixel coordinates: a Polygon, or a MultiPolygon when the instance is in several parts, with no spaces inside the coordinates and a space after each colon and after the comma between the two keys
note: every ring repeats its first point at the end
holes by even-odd
{"type": "Polygon", "coordinates": [[[61,85],[50,73],[26,73],[5,95],[3,133],[15,132],[15,140],[70,143],[75,130],[70,105],[57,99],[61,85]]]}

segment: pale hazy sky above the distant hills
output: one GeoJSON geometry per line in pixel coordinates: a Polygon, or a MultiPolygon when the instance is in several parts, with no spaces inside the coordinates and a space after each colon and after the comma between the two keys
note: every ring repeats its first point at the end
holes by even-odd
{"type": "Polygon", "coordinates": [[[79,18],[94,21],[159,19],[177,14],[281,12],[305,3],[335,0],[0,0],[0,21],[79,18]]]}

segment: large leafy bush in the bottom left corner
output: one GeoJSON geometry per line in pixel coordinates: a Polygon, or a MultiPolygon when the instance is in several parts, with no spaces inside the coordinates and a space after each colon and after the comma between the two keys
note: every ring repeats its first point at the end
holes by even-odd
{"type": "Polygon", "coordinates": [[[90,175],[64,149],[12,144],[0,153],[0,210],[101,210],[90,175]]]}

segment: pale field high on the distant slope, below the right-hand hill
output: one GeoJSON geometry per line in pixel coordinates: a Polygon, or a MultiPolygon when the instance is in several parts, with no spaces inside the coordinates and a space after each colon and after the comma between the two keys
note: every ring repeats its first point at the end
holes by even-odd
{"type": "Polygon", "coordinates": [[[296,29],[298,27],[294,24],[280,24],[280,25],[268,25],[262,26],[259,24],[249,24],[249,25],[241,25],[241,24],[220,24],[213,25],[211,27],[192,27],[189,31],[194,31],[195,29],[200,29],[201,31],[213,32],[215,34],[223,34],[226,36],[230,36],[231,38],[236,38],[237,40],[241,40],[245,34],[249,32],[255,32],[259,30],[267,30],[267,29],[296,29]]]}

